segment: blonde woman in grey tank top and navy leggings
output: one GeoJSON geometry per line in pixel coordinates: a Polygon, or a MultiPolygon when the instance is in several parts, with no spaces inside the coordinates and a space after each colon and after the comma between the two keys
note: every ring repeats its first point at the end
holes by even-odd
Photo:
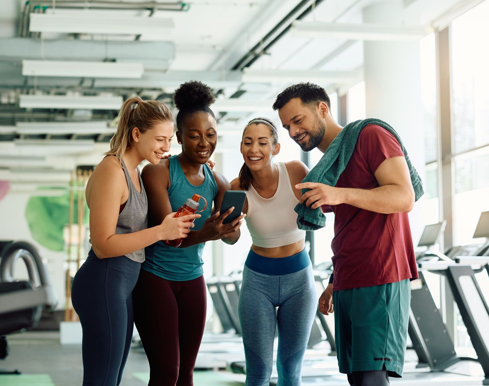
{"type": "Polygon", "coordinates": [[[148,201],[137,166],[170,150],[173,116],[159,101],[126,100],[111,150],[91,175],[89,255],[76,273],[71,300],[83,328],[83,385],[117,386],[133,336],[132,291],[144,248],[187,237],[200,215],[165,217],[148,228],[148,201]]]}

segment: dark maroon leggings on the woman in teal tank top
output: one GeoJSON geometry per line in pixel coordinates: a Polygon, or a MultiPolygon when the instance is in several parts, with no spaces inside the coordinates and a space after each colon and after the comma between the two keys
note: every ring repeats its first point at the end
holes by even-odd
{"type": "Polygon", "coordinates": [[[203,276],[171,281],[141,270],[133,303],[134,322],[150,363],[148,386],[193,386],[207,307],[203,276]]]}

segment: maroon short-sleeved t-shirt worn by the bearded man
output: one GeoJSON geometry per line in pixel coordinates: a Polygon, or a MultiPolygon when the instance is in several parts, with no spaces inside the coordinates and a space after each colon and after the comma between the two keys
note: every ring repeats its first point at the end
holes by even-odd
{"type": "MultiPolygon", "coordinates": [[[[396,138],[378,125],[368,125],[336,186],[374,189],[379,186],[377,168],[398,156],[404,153],[396,138]]],[[[407,213],[382,214],[349,204],[322,209],[334,212],[334,291],[418,278],[407,213]]]]}

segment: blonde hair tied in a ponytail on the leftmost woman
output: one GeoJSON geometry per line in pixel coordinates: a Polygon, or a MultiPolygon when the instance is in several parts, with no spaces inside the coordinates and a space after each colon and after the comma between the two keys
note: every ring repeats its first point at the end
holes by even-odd
{"type": "Polygon", "coordinates": [[[119,112],[117,131],[111,138],[111,150],[105,155],[116,156],[119,161],[124,153],[133,146],[133,129],[137,127],[141,133],[158,122],[173,122],[170,109],[157,100],[142,100],[139,96],[126,99],[119,112]]]}

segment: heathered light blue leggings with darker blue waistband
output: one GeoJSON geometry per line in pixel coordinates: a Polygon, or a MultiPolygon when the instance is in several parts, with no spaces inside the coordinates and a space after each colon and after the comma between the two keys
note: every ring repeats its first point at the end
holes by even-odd
{"type": "MultiPolygon", "coordinates": [[[[299,259],[302,261],[305,259],[303,253],[307,256],[307,252],[301,252],[302,256],[299,256],[299,259]]],[[[285,265],[288,268],[292,267],[292,271],[297,265],[294,262],[289,264],[290,258],[299,255],[298,253],[271,259],[253,254],[254,263],[257,263],[257,257],[274,260],[270,262],[271,268],[275,264],[280,264],[282,259],[289,259],[285,265]]],[[[246,357],[246,386],[269,385],[277,326],[278,386],[300,386],[302,360],[317,309],[311,262],[308,261],[306,268],[296,272],[270,275],[248,267],[259,267],[257,269],[262,268],[262,271],[265,267],[270,272],[269,264],[248,264],[249,260],[250,255],[244,266],[239,300],[239,317],[246,357]]]]}

